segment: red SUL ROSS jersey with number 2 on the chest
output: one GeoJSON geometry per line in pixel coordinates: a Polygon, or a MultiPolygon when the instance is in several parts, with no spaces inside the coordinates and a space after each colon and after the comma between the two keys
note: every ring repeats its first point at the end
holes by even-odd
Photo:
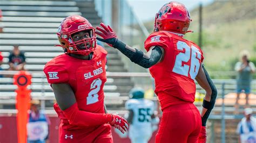
{"type": "MultiPolygon", "coordinates": [[[[68,54],[62,54],[46,63],[44,73],[50,84],[67,83],[70,85],[75,94],[79,110],[105,113],[103,85],[106,82],[106,55],[105,49],[99,45],[93,51],[91,60],[81,60],[68,54]]],[[[55,104],[54,108],[61,119],[60,126],[63,129],[86,128],[88,132],[95,130],[93,126],[70,125],[59,106],[55,104]]]]}

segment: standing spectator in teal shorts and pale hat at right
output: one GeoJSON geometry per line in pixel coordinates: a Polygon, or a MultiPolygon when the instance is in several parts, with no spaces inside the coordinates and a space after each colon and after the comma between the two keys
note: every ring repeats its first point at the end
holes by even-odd
{"type": "Polygon", "coordinates": [[[255,66],[253,62],[250,62],[248,59],[248,52],[242,51],[241,52],[242,61],[237,62],[235,64],[235,70],[238,71],[237,77],[237,99],[235,101],[235,112],[238,112],[239,109],[239,96],[242,90],[244,90],[246,95],[246,104],[245,107],[248,107],[248,98],[251,92],[251,81],[252,81],[252,74],[255,72],[255,66]]]}

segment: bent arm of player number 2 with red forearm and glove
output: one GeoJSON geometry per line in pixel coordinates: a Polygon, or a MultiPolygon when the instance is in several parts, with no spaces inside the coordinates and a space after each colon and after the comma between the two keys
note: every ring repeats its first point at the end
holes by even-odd
{"type": "Polygon", "coordinates": [[[109,123],[123,133],[127,131],[127,121],[123,117],[109,113],[91,113],[79,110],[75,94],[69,84],[52,84],[52,89],[59,108],[71,125],[93,126],[109,123]],[[120,122],[116,122],[116,120],[120,120],[120,122]]]}

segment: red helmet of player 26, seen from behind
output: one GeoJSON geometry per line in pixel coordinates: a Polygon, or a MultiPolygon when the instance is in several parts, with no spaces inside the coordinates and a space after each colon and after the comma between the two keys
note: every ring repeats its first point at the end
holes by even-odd
{"type": "Polygon", "coordinates": [[[170,2],[165,4],[156,14],[154,32],[165,30],[186,34],[190,22],[190,13],[185,5],[178,2],[170,2]]]}

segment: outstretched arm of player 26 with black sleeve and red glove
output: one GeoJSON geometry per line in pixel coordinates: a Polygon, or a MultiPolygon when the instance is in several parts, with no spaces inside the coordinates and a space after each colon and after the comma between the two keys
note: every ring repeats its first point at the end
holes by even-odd
{"type": "Polygon", "coordinates": [[[117,39],[116,33],[110,26],[106,26],[103,23],[100,24],[102,27],[96,27],[98,34],[102,38],[97,38],[100,41],[106,42],[108,45],[117,48],[120,52],[126,55],[132,62],[137,63],[139,66],[144,68],[150,68],[156,63],[160,62],[164,57],[164,49],[159,46],[150,47],[149,52],[144,53],[139,49],[130,47],[124,42],[117,39]]]}

